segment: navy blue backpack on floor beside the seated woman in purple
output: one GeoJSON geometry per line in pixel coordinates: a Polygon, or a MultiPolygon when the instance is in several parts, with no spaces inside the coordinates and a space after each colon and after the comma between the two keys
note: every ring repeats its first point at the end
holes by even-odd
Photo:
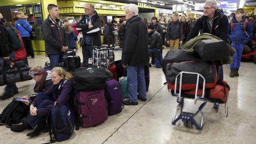
{"type": "Polygon", "coordinates": [[[50,143],[68,140],[76,128],[74,114],[72,114],[67,106],[57,106],[57,104],[52,106],[48,114],[47,125],[50,143]],[[52,137],[52,134],[54,137],[52,137]]]}

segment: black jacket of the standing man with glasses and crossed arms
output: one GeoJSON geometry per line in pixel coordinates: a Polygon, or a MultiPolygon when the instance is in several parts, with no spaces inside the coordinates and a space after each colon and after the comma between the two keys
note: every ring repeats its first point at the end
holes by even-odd
{"type": "Polygon", "coordinates": [[[82,19],[78,22],[78,24],[76,24],[76,28],[81,28],[82,30],[78,30],[78,32],[83,32],[83,42],[82,42],[82,46],[84,46],[85,44],[85,36],[91,36],[92,38],[92,46],[101,46],[101,30],[98,30],[96,32],[92,32],[90,33],[90,31],[95,30],[97,28],[101,29],[101,19],[98,16],[98,13],[94,10],[94,18],[92,18],[92,28],[88,28],[88,24],[86,24],[86,15],[82,15],[82,19]],[[89,33],[88,33],[89,32],[89,33]]]}

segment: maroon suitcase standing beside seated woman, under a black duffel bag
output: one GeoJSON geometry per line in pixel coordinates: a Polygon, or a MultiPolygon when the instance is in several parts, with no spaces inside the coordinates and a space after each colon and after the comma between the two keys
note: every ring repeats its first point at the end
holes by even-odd
{"type": "Polygon", "coordinates": [[[78,92],[76,100],[78,102],[77,114],[79,115],[80,126],[88,128],[108,119],[108,106],[104,90],[78,92]]]}

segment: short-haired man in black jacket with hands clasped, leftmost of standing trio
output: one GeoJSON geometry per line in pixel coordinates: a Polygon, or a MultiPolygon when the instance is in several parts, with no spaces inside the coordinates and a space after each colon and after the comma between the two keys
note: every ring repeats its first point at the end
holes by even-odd
{"type": "Polygon", "coordinates": [[[45,51],[50,59],[50,67],[54,68],[57,64],[63,62],[63,56],[68,49],[68,37],[58,19],[60,14],[58,6],[48,4],[48,17],[42,23],[42,32],[44,35],[45,51]]]}

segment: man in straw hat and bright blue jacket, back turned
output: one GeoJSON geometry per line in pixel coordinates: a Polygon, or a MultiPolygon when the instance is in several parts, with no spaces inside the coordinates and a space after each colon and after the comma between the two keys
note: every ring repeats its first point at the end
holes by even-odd
{"type": "Polygon", "coordinates": [[[34,50],[32,48],[32,42],[30,38],[30,32],[32,31],[32,28],[29,22],[27,22],[26,20],[28,16],[22,12],[21,14],[18,14],[16,17],[19,18],[19,20],[15,23],[14,28],[16,28],[20,32],[20,36],[24,43],[27,56],[31,56],[31,58],[34,58],[34,50]]]}

